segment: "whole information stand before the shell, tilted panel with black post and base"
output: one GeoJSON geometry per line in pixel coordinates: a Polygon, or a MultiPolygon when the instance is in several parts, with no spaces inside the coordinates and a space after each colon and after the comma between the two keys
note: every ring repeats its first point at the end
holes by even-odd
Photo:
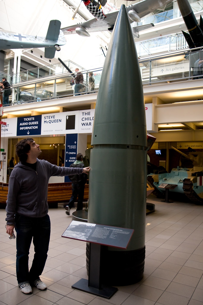
{"type": "Polygon", "coordinates": [[[72,221],[61,236],[90,243],[88,280],[81,278],[72,285],[72,288],[110,299],[118,289],[102,283],[101,255],[103,246],[126,249],[133,232],[134,229],[72,221]]]}

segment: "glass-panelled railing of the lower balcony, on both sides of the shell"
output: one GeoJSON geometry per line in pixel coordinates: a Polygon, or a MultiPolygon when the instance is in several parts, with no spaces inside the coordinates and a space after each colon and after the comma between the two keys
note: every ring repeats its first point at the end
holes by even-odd
{"type": "MultiPolygon", "coordinates": [[[[154,56],[139,60],[142,84],[159,84],[203,78],[203,59],[201,49],[179,51],[165,56],[154,56]]],[[[94,88],[89,88],[89,72],[82,71],[83,85],[79,94],[91,94],[98,91],[102,68],[91,70],[94,78],[94,88]]],[[[126,81],[126,75],[119,76],[126,81]]],[[[37,81],[27,81],[12,86],[12,102],[10,105],[23,104],[46,99],[56,99],[76,95],[74,85],[70,84],[72,74],[43,77],[37,81]]]]}

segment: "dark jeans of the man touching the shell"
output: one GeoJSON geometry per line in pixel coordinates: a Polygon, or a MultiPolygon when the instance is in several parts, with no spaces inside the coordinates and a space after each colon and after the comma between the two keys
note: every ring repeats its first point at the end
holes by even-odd
{"type": "Polygon", "coordinates": [[[32,218],[16,214],[16,275],[19,286],[27,282],[32,284],[42,274],[49,249],[50,227],[49,215],[32,218]],[[28,255],[32,238],[35,254],[29,272],[28,255]]]}

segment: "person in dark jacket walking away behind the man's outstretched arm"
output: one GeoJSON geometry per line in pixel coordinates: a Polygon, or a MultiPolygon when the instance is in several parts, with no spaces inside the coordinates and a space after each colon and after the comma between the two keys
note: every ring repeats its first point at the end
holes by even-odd
{"type": "MultiPolygon", "coordinates": [[[[82,153],[79,152],[76,156],[76,161],[70,165],[70,167],[84,167],[84,163],[82,162],[82,153]]],[[[87,175],[72,175],[68,176],[72,182],[72,196],[69,200],[68,205],[65,207],[66,214],[70,215],[70,209],[73,207],[74,202],[78,197],[77,210],[82,210],[83,208],[83,198],[84,198],[84,189],[85,184],[87,182],[87,175]]]]}

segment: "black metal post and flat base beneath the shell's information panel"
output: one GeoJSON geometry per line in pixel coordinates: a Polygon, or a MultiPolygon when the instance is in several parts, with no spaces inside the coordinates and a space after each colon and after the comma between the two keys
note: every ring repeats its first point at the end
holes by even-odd
{"type": "Polygon", "coordinates": [[[90,243],[89,278],[88,280],[81,278],[71,287],[110,299],[118,289],[101,283],[100,257],[102,247],[100,244],[90,243]]]}

